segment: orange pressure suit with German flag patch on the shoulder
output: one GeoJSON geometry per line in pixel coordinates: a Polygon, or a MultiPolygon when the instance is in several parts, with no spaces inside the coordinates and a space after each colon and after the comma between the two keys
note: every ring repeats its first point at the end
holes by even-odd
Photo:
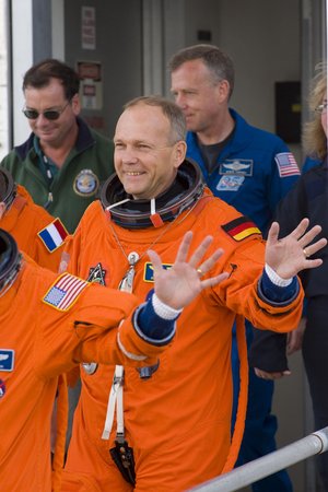
{"type": "Polygon", "coordinates": [[[114,367],[101,365],[93,374],[81,368],[82,393],[66,466],[67,473],[84,473],[96,485],[92,488],[89,481],[84,488],[67,485],[63,492],[180,492],[219,476],[231,446],[231,333],[235,315],[273,331],[297,326],[302,290],[283,306],[273,306],[258,294],[265,254],[259,231],[209,190],[194,209],[157,229],[119,226],[99,201],[93,202],[67,243],[69,271],[117,289],[129,269],[127,257],[136,251],[140,259],[134,266],[133,293],[142,300],[153,288],[145,250],[155,249],[169,267],[189,230],[194,245],[211,234],[212,248],[225,251],[210,274],[229,271],[231,276],[202,291],[184,309],[175,342],[161,355],[151,377],[141,378],[136,368],[126,367],[124,417],[126,438],[134,453],[136,488],[124,480],[109,456],[115,423],[109,441],[102,440],[114,367]]]}

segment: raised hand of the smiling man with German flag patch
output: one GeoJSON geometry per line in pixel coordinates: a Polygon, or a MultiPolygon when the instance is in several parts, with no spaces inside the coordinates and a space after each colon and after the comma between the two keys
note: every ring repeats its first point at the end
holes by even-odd
{"type": "Polygon", "coordinates": [[[270,227],[266,246],[266,262],[282,279],[290,279],[301,270],[323,265],[321,259],[311,259],[311,256],[325,247],[327,239],[321,238],[311,244],[321,232],[321,227],[315,225],[306,232],[308,224],[308,219],[303,219],[297,227],[282,239],[278,239],[278,222],[273,222],[270,227]],[[311,246],[308,246],[309,244],[311,246]]]}

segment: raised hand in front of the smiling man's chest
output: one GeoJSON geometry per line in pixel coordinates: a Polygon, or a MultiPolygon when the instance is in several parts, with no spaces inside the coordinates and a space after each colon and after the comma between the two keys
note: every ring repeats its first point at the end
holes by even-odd
{"type": "Polygon", "coordinates": [[[185,234],[172,268],[164,270],[160,256],[154,250],[148,255],[153,263],[154,288],[159,298],[168,306],[180,309],[189,304],[203,289],[216,285],[227,279],[229,273],[201,278],[208,273],[223,255],[223,249],[216,249],[203,260],[213,238],[207,236],[187,260],[192,232],[185,234]]]}

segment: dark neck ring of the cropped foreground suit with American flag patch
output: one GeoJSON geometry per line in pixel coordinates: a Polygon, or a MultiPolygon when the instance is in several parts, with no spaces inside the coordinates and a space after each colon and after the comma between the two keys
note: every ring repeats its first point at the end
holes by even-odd
{"type": "Polygon", "coordinates": [[[14,281],[21,269],[21,259],[22,256],[12,235],[0,229],[0,295],[1,291],[14,281]]]}

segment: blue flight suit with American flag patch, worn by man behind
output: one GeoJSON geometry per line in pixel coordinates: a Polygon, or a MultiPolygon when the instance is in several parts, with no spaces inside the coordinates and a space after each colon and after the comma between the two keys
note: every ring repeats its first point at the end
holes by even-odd
{"type": "MultiPolygon", "coordinates": [[[[300,176],[300,169],[286,144],[277,136],[247,124],[234,109],[232,137],[221,150],[216,165],[208,172],[196,133],[187,133],[187,156],[196,161],[212,192],[248,215],[266,236],[278,202],[288,194],[300,176]]],[[[246,321],[248,348],[253,326],[246,321]]],[[[234,377],[233,422],[239,391],[239,361],[235,329],[232,347],[234,377]]],[[[248,407],[245,433],[237,465],[276,450],[277,418],[271,414],[273,382],[260,379],[249,368],[248,407]]],[[[291,492],[291,480],[281,470],[253,484],[254,492],[291,492]]]]}

